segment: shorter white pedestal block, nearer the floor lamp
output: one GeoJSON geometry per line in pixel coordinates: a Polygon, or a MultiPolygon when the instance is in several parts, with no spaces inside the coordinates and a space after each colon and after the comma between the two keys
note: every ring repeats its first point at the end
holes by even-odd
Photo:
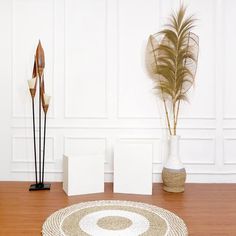
{"type": "Polygon", "coordinates": [[[68,196],[104,192],[103,156],[66,156],[63,190],[68,196]]]}

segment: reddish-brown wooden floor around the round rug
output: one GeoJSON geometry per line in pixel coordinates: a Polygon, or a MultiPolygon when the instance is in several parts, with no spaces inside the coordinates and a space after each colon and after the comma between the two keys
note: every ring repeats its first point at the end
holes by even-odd
{"type": "Polygon", "coordinates": [[[50,191],[29,192],[30,183],[0,182],[0,235],[40,235],[44,220],[59,208],[71,204],[120,199],[141,201],[168,209],[186,222],[189,234],[236,236],[236,184],[186,184],[184,193],[170,194],[154,184],[152,196],[105,193],[67,197],[61,183],[50,191]]]}

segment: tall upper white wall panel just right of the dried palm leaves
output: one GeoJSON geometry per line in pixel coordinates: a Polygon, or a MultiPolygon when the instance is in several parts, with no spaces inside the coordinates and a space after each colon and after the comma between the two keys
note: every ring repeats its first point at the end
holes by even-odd
{"type": "Polygon", "coordinates": [[[196,83],[189,93],[190,104],[182,107],[181,117],[215,118],[216,83],[216,5],[215,0],[187,0],[187,13],[197,21],[193,32],[199,36],[196,83]]]}

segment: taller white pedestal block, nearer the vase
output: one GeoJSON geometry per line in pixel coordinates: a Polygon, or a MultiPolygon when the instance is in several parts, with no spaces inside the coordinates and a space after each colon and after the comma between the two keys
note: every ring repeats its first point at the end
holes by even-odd
{"type": "Polygon", "coordinates": [[[116,145],[114,192],[152,194],[152,151],[152,144],[116,145]]]}

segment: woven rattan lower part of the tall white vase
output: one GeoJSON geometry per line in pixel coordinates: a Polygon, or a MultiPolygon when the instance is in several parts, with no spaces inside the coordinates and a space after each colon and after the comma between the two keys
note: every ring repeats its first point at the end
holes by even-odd
{"type": "Polygon", "coordinates": [[[186,180],[185,168],[175,170],[163,168],[162,170],[163,189],[171,193],[184,192],[184,184],[186,180]]]}

